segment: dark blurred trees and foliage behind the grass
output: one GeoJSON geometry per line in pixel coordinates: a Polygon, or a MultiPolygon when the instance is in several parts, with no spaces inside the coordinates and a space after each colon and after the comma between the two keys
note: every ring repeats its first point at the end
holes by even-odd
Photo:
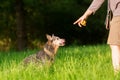
{"type": "Polygon", "coordinates": [[[87,20],[84,28],[73,25],[92,0],[0,0],[0,50],[41,47],[46,34],[71,44],[106,43],[106,2],[87,20]]]}

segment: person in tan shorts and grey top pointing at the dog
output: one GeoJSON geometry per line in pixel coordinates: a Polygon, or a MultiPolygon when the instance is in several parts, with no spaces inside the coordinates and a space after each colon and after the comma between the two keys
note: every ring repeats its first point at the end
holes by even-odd
{"type": "MultiPolygon", "coordinates": [[[[81,26],[82,21],[95,14],[105,0],[93,0],[86,12],[78,18],[73,24],[81,26]]],[[[107,44],[110,46],[112,53],[112,64],[114,72],[120,72],[120,0],[108,0],[108,9],[111,10],[113,17],[110,21],[109,35],[107,44]]]]}

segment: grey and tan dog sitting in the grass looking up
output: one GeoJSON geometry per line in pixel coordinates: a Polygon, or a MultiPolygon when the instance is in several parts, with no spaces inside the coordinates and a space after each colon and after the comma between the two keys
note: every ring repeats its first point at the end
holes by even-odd
{"type": "Polygon", "coordinates": [[[46,34],[47,42],[43,49],[36,54],[30,55],[24,59],[24,64],[37,63],[50,65],[54,62],[54,57],[60,46],[65,45],[65,39],[46,34]]]}

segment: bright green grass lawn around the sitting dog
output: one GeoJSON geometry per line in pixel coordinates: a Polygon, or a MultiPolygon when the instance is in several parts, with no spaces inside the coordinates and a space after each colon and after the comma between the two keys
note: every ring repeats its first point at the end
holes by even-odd
{"type": "Polygon", "coordinates": [[[61,47],[51,67],[20,64],[36,51],[0,52],[0,80],[120,80],[108,45],[61,47]]]}

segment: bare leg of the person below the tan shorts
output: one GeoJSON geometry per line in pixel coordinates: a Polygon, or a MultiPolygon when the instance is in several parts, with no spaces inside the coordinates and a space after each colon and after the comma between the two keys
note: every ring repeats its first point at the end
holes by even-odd
{"type": "Polygon", "coordinates": [[[115,73],[120,71],[120,45],[110,45],[115,73]]]}

